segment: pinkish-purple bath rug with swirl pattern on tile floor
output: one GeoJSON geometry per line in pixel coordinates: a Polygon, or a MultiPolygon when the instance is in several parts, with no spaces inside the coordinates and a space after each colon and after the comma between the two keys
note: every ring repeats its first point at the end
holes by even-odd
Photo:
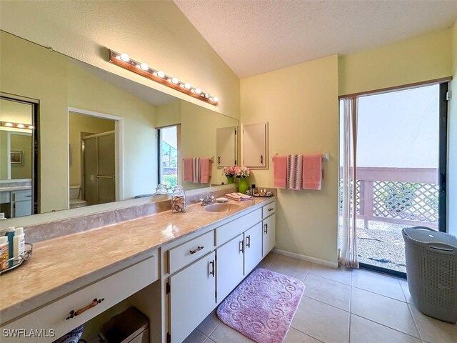
{"type": "Polygon", "coordinates": [[[300,280],[258,268],[217,309],[221,322],[258,343],[282,343],[305,285],[300,280]]]}

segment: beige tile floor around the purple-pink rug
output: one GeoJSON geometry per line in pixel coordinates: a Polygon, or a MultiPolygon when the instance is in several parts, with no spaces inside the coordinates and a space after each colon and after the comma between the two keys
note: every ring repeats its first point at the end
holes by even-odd
{"type": "MultiPolygon", "coordinates": [[[[286,343],[457,343],[457,324],[418,312],[406,280],[274,253],[258,267],[296,277],[306,286],[286,343]]],[[[253,341],[221,323],[213,312],[184,342],[253,341]]]]}

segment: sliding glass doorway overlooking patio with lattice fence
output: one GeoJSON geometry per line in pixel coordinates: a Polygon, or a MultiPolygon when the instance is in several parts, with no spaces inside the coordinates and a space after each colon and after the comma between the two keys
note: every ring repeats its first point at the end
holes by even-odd
{"type": "Polygon", "coordinates": [[[353,210],[361,267],[406,277],[401,229],[446,232],[447,90],[431,84],[358,98],[353,210]]]}

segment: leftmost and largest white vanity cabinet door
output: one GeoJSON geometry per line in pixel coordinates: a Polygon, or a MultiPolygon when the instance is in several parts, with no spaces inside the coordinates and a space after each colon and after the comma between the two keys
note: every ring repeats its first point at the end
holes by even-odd
{"type": "Polygon", "coordinates": [[[215,254],[170,277],[171,342],[182,342],[216,306],[215,254]]]}

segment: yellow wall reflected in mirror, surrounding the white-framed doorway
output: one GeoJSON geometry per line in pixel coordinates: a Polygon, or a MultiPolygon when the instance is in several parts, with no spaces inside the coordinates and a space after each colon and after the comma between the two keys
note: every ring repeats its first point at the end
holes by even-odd
{"type": "Polygon", "coordinates": [[[68,207],[69,106],[124,118],[124,198],[145,193],[145,185],[154,190],[154,106],[97,78],[66,56],[4,32],[0,44],[0,90],[40,101],[40,212],[68,207]]]}

